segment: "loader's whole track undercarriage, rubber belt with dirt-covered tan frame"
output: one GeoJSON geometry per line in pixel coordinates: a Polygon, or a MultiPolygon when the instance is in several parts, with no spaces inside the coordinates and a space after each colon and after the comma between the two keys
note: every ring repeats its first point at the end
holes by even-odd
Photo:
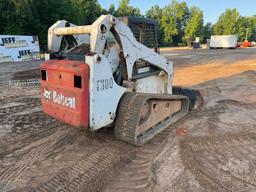
{"type": "Polygon", "coordinates": [[[115,122],[118,139],[140,146],[187,114],[189,99],[182,95],[126,93],[115,122]]]}

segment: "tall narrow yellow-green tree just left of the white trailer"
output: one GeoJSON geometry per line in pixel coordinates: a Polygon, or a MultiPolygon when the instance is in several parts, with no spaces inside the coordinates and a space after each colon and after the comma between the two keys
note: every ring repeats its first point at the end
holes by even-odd
{"type": "Polygon", "coordinates": [[[188,46],[191,46],[191,42],[195,37],[202,37],[204,19],[203,11],[198,7],[191,7],[190,9],[190,18],[187,21],[185,29],[185,38],[187,39],[188,46]]]}

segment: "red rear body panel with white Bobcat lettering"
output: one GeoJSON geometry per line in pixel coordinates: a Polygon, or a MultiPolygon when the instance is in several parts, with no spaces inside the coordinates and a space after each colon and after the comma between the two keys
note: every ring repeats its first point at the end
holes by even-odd
{"type": "Polygon", "coordinates": [[[48,115],[77,127],[89,127],[89,66],[79,61],[50,60],[41,64],[42,109],[48,115]],[[81,77],[81,88],[75,87],[81,77]],[[43,79],[43,77],[42,77],[43,79]]]}

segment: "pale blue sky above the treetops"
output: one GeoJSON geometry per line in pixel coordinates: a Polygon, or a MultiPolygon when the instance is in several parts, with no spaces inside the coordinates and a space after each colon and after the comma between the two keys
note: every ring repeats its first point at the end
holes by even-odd
{"type": "MultiPolygon", "coordinates": [[[[105,9],[110,4],[118,7],[119,0],[98,0],[105,9]]],[[[181,2],[182,0],[178,0],[181,2]]],[[[204,22],[215,23],[218,17],[227,8],[236,8],[242,16],[256,15],[256,0],[184,0],[188,6],[198,6],[204,12],[204,22]]],[[[168,5],[171,0],[130,0],[130,5],[140,8],[142,14],[150,9],[153,5],[158,4],[160,7],[168,5]]]]}

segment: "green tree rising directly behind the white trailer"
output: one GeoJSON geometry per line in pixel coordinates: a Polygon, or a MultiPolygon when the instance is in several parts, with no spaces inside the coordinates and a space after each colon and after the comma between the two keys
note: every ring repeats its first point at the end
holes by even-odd
{"type": "Polygon", "coordinates": [[[240,14],[237,9],[226,9],[221,14],[217,23],[213,26],[213,32],[216,35],[231,35],[236,33],[236,26],[240,14]]]}

